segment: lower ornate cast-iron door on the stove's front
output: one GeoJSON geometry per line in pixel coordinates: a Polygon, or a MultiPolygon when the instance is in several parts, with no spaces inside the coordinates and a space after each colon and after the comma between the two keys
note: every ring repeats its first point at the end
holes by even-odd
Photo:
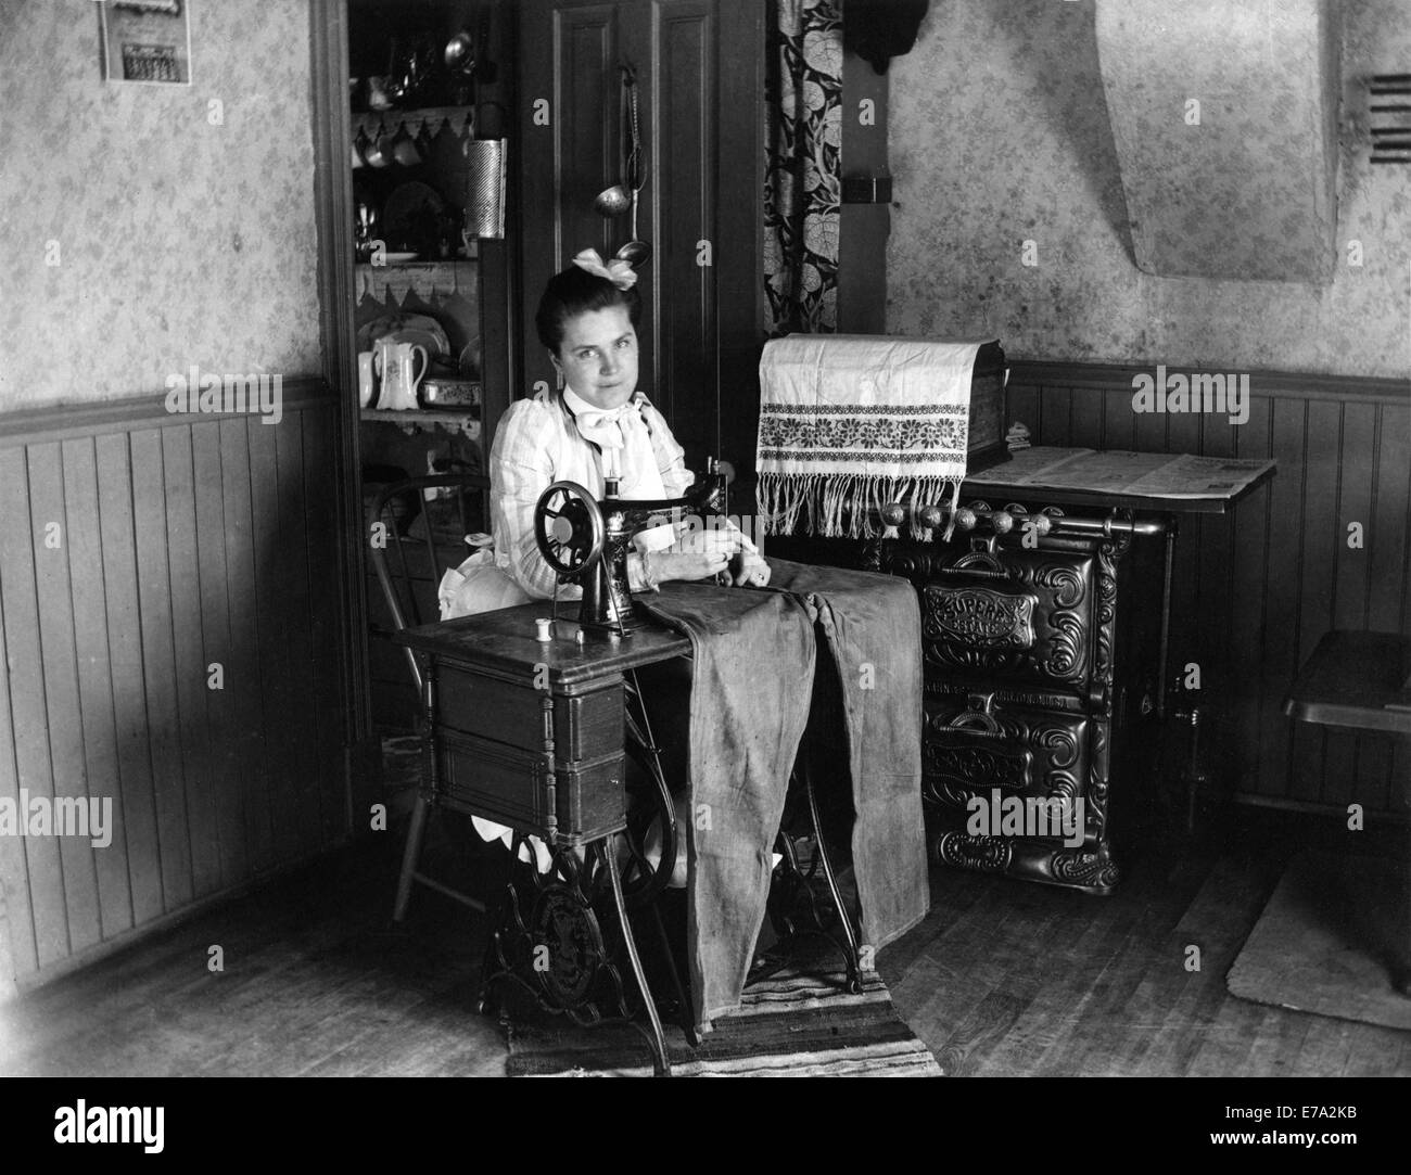
{"type": "MultiPolygon", "coordinates": [[[[928,697],[924,711],[923,794],[957,820],[964,821],[971,797],[989,801],[995,790],[1002,798],[1082,798],[1088,807],[1094,719],[1086,715],[989,705],[988,695],[969,704],[928,697]]],[[[1095,822],[1101,812],[1085,812],[1089,829],[1095,822]]]]}

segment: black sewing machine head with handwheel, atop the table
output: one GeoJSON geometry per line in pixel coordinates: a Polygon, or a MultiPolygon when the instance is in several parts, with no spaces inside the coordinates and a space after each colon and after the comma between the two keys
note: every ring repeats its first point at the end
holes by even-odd
{"type": "Polygon", "coordinates": [[[724,516],[725,477],[713,460],[707,470],[683,498],[618,498],[611,478],[601,501],[576,481],[556,481],[539,495],[533,519],[539,553],[559,583],[583,585],[580,625],[624,635],[641,628],[645,618],[632,604],[626,577],[632,540],[643,530],[680,522],[683,515],[724,516]]]}

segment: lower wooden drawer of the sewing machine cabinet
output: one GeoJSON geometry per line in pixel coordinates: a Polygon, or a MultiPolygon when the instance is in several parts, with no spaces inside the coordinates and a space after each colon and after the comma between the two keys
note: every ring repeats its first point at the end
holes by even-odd
{"type": "MultiPolygon", "coordinates": [[[[583,844],[626,825],[621,742],[612,755],[559,763],[555,797],[559,836],[583,844]]],[[[494,739],[440,733],[442,794],[450,805],[521,828],[547,832],[549,789],[543,752],[494,739]]]]}

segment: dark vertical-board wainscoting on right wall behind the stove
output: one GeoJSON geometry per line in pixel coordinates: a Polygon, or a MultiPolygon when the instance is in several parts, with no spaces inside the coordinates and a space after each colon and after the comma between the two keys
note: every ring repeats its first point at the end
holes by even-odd
{"type": "Polygon", "coordinates": [[[1209,765],[1245,803],[1405,817],[1411,748],[1291,722],[1281,704],[1329,629],[1411,633],[1411,384],[1250,372],[1249,419],[1232,425],[1133,412],[1140,372],[1156,365],[1016,361],[1009,418],[1036,444],[1277,460],[1232,516],[1181,522],[1170,664],[1201,666],[1209,765]]]}

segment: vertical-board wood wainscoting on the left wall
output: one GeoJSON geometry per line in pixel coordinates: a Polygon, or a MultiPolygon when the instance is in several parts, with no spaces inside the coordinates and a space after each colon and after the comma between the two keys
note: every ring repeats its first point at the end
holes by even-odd
{"type": "Polygon", "coordinates": [[[111,800],[0,835],[0,990],[349,836],[337,410],[282,406],[0,415],[0,805],[111,800]]]}

